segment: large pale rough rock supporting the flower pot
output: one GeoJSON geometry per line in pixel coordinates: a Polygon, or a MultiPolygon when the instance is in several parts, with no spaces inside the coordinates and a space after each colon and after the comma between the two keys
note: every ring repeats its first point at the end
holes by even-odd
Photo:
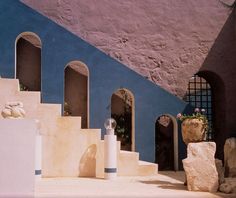
{"type": "Polygon", "coordinates": [[[215,151],[214,142],[188,144],[188,157],[183,160],[188,190],[217,191],[219,183],[214,159],[215,151]]]}

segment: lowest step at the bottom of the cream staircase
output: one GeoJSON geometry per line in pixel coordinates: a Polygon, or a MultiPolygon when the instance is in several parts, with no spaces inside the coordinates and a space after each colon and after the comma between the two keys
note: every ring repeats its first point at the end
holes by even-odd
{"type": "Polygon", "coordinates": [[[146,161],[139,161],[138,164],[139,176],[150,176],[158,173],[158,164],[146,161]]]}

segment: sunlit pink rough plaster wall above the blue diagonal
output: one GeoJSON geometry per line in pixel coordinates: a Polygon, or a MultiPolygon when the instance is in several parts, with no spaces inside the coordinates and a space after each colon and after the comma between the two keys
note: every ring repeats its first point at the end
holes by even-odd
{"type": "Polygon", "coordinates": [[[22,2],[179,97],[231,12],[220,0],[22,2]]]}

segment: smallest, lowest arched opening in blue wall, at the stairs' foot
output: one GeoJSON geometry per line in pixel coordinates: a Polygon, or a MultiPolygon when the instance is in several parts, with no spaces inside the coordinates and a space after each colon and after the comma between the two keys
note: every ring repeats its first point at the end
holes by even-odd
{"type": "Polygon", "coordinates": [[[159,116],[155,123],[155,162],[159,170],[179,170],[178,124],[169,114],[159,116]]]}

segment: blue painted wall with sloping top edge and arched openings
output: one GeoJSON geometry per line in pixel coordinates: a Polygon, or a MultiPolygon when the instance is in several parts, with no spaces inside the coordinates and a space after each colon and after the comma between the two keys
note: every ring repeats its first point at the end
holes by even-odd
{"type": "MultiPolygon", "coordinates": [[[[43,102],[63,104],[64,67],[67,63],[79,60],[87,65],[90,73],[90,128],[103,128],[104,120],[110,117],[114,91],[119,88],[130,90],[135,97],[135,149],[142,160],[154,161],[156,119],[162,114],[175,116],[183,112],[185,102],[19,1],[0,1],[0,29],[2,77],[15,76],[17,36],[30,31],[40,37],[43,102]]],[[[179,150],[181,160],[185,156],[181,138],[179,150]]]]}

